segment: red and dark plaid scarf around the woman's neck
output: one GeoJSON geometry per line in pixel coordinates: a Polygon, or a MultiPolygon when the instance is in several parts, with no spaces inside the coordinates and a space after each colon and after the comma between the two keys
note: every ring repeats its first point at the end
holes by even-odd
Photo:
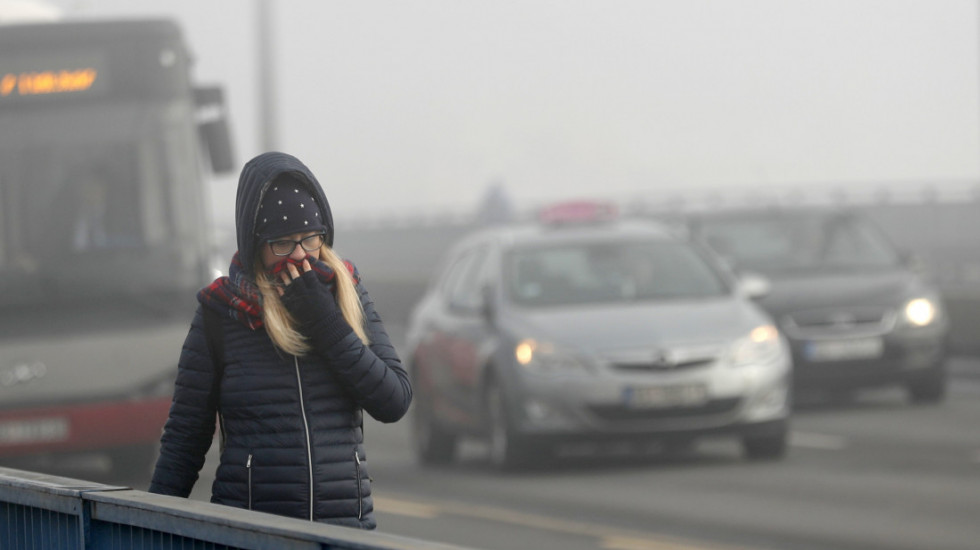
{"type": "MultiPolygon", "coordinates": [[[[279,262],[273,268],[273,274],[285,269],[287,263],[295,262],[289,260],[279,262]]],[[[347,260],[344,260],[344,265],[354,276],[356,283],[359,277],[354,265],[347,260]]],[[[311,262],[310,266],[321,281],[333,285],[334,272],[330,266],[320,260],[311,262]]],[[[259,287],[255,281],[242,269],[238,252],[235,252],[231,259],[228,276],[219,277],[210,285],[202,288],[197,293],[197,300],[204,307],[209,307],[222,315],[228,315],[252,330],[262,327],[262,294],[259,292],[259,287]]]]}

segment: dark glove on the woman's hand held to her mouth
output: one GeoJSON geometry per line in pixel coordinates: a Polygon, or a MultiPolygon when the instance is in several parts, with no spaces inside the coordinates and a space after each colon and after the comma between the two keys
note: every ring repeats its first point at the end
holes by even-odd
{"type": "Polygon", "coordinates": [[[286,285],[282,303],[314,347],[330,346],[353,332],[333,296],[333,281],[322,282],[306,271],[286,285]]]}

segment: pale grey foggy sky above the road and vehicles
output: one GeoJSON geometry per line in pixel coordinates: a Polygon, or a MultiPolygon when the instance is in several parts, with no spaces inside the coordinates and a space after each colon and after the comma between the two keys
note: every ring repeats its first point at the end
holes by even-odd
{"type": "MultiPolygon", "coordinates": [[[[260,152],[255,2],[54,2],[184,25],[260,152]]],[[[967,0],[272,3],[279,149],[339,219],[729,185],[980,176],[967,0]]],[[[215,189],[230,219],[233,179],[215,189]]]]}

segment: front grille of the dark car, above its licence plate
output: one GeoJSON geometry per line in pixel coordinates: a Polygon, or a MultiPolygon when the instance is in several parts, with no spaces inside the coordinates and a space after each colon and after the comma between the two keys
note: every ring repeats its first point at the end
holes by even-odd
{"type": "Polygon", "coordinates": [[[798,339],[881,336],[895,326],[895,310],[867,306],[797,311],[782,319],[787,335],[798,339]]]}

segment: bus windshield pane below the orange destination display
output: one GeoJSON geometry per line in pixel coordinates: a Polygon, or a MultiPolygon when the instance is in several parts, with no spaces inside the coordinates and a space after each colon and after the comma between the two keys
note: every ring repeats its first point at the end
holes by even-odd
{"type": "Polygon", "coordinates": [[[175,108],[5,117],[20,139],[0,130],[0,304],[198,284],[207,234],[199,201],[180,202],[197,160],[175,108]],[[53,119],[65,130],[31,136],[53,119]]]}

